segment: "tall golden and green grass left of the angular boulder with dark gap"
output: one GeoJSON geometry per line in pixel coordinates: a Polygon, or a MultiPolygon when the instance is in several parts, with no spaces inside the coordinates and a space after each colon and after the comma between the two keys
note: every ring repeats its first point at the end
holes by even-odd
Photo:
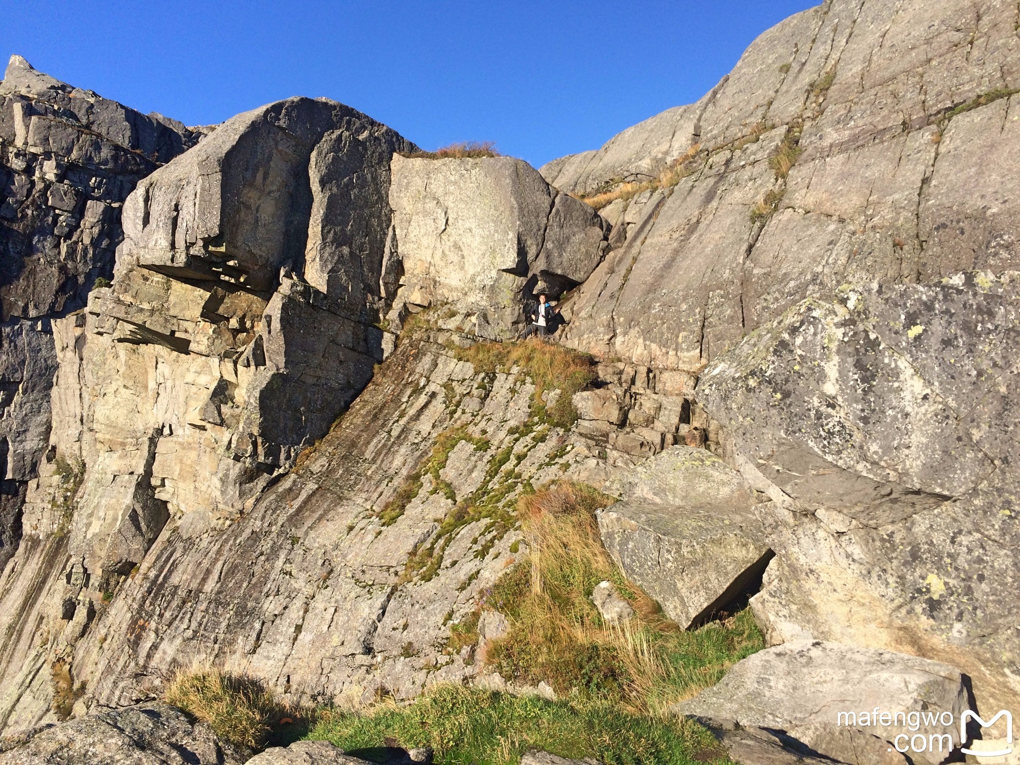
{"type": "Polygon", "coordinates": [[[560,695],[608,699],[643,714],[717,682],[734,662],[760,650],[750,612],[681,630],[627,582],[599,536],[595,510],[614,502],[591,487],[560,481],[522,497],[517,513],[529,560],[486,595],[483,608],[504,613],[510,633],[487,652],[492,671],[517,682],[545,680],[560,695]],[[591,601],[609,580],[635,617],[606,623],[591,601]]]}

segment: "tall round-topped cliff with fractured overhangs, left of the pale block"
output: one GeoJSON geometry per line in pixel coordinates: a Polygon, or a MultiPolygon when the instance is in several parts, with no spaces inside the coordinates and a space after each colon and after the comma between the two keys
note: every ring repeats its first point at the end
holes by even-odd
{"type": "MultiPolygon", "coordinates": [[[[42,683],[38,663],[81,636],[169,518],[250,509],[368,381],[390,159],[414,148],[291,99],[228,120],[131,196],[113,286],[54,322],[56,424],[3,575],[0,673],[42,683]],[[74,626],[44,636],[51,617],[74,626]]],[[[0,718],[26,692],[3,685],[0,718]]]]}

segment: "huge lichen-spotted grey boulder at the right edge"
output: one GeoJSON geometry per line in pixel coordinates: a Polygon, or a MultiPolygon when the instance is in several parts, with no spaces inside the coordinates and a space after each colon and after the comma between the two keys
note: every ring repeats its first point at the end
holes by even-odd
{"type": "Polygon", "coordinates": [[[1018,277],[847,287],[752,334],[701,378],[742,473],[773,498],[752,600],[771,643],[918,654],[1020,697],[1018,277]]]}

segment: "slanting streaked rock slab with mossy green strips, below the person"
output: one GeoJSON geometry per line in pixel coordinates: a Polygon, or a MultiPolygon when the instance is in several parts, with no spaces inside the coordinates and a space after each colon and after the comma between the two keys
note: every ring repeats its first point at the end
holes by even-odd
{"type": "MultiPolygon", "coordinates": [[[[476,372],[440,344],[449,335],[430,337],[405,339],[307,462],[243,517],[167,522],[75,641],[89,699],[158,693],[195,659],[295,701],[408,698],[474,676],[473,647],[450,649],[450,627],[527,555],[519,492],[594,457],[534,413],[522,373],[476,372]]],[[[12,721],[45,699],[39,685],[12,721]]]]}

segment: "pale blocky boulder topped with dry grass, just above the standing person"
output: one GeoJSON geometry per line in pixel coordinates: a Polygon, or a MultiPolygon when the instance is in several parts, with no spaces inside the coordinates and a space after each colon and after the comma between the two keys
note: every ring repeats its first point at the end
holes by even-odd
{"type": "Polygon", "coordinates": [[[511,157],[396,155],[390,203],[385,278],[398,317],[450,305],[483,337],[516,337],[525,297],[577,286],[605,251],[598,213],[511,157]]]}

